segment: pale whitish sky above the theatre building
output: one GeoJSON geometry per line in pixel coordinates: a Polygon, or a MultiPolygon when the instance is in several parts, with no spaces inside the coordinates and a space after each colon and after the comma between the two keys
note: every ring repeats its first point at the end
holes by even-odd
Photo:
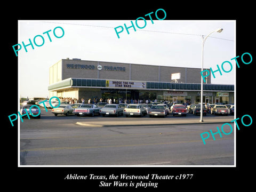
{"type": "MultiPolygon", "coordinates": [[[[138,15],[139,17],[140,15],[138,15]]],[[[19,20],[18,42],[29,44],[36,37],[34,50],[29,45],[18,51],[19,97],[47,97],[49,91],[49,67],[61,59],[138,63],[145,65],[201,68],[202,35],[212,33],[204,44],[204,68],[217,70],[224,61],[233,64],[229,73],[215,73],[212,84],[235,83],[236,22],[234,20],[146,20],[146,26],[136,31],[129,29],[119,33],[115,27],[131,26],[131,20],[19,20]],[[56,38],[53,30],[61,27],[65,34],[56,38]],[[49,31],[51,30],[51,31],[49,31]],[[46,31],[49,31],[50,42],[46,31]],[[43,34],[45,33],[45,34],[43,34]]],[[[142,19],[138,26],[144,26],[142,19]]],[[[117,29],[118,31],[121,28],[117,29]]],[[[62,35],[60,28],[55,30],[62,35]]],[[[18,47],[18,46],[17,46],[18,47]]],[[[16,49],[18,49],[16,47],[16,49]]],[[[13,51],[15,57],[15,52],[13,51]]],[[[229,66],[224,66],[228,71],[229,66]]],[[[200,75],[200,74],[198,74],[200,75]]]]}

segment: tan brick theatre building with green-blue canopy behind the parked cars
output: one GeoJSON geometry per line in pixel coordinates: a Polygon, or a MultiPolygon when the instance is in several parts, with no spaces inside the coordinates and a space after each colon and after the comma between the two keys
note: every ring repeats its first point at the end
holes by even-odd
{"type": "MultiPolygon", "coordinates": [[[[49,69],[49,95],[62,98],[150,99],[158,102],[200,102],[201,68],[167,67],[61,59],[49,69]]],[[[210,70],[209,70],[210,71],[210,70]]],[[[203,85],[203,101],[234,103],[234,85],[203,85]]]]}

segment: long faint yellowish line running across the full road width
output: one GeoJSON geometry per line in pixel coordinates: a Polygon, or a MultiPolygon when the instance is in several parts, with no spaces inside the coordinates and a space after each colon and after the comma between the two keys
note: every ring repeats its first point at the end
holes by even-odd
{"type": "MultiPolygon", "coordinates": [[[[225,139],[215,139],[215,140],[228,140],[234,138],[225,139]]],[[[209,140],[209,141],[214,141],[209,140]]],[[[161,143],[145,143],[145,144],[133,144],[133,145],[117,145],[117,146],[91,146],[91,147],[51,147],[51,148],[37,148],[37,149],[23,149],[20,152],[25,151],[42,151],[42,150],[62,150],[62,149],[92,149],[92,148],[109,148],[109,147],[134,147],[134,146],[150,146],[150,145],[169,145],[169,144],[179,144],[179,143],[190,143],[190,142],[202,142],[202,140],[193,141],[172,141],[172,142],[161,142],[161,143]]]]}

